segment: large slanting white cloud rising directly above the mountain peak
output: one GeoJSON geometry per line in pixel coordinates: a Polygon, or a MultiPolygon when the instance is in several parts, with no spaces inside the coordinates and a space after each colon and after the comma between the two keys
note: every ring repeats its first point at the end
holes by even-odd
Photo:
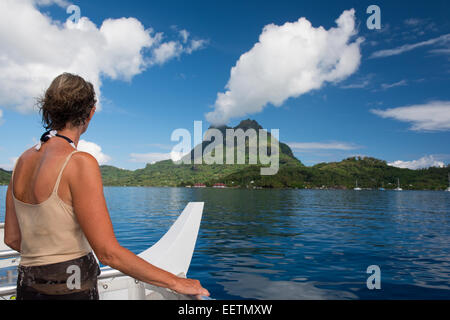
{"type": "Polygon", "coordinates": [[[337,27],[314,28],[305,18],[282,26],[264,27],[259,42],[231,69],[225,93],[218,93],[214,111],[206,118],[214,125],[257,113],[271,103],[279,107],[291,97],[338,82],[360,64],[361,38],[356,35],[355,11],[344,11],[337,27]]]}

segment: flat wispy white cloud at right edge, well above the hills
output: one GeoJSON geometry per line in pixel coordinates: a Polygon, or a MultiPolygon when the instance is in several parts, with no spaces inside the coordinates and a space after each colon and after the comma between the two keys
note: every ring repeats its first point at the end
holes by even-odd
{"type": "Polygon", "coordinates": [[[410,122],[411,130],[414,131],[450,130],[450,101],[433,101],[387,110],[373,109],[371,112],[383,118],[410,122]]]}

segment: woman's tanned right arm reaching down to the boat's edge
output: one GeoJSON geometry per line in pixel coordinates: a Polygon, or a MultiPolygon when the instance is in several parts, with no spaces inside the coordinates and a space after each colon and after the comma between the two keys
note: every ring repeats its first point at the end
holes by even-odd
{"type": "Polygon", "coordinates": [[[209,295],[199,281],[179,278],[121,247],[114,235],[97,161],[89,154],[77,153],[69,166],[69,185],[77,219],[103,264],[140,281],[182,294],[209,295]]]}

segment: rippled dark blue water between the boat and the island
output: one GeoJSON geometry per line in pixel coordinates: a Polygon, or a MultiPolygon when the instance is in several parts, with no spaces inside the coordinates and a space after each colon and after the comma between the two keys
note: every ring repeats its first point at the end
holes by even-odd
{"type": "Polygon", "coordinates": [[[105,196],[119,242],[135,253],[204,201],[188,277],[215,299],[450,299],[450,192],[107,187],[105,196]],[[381,289],[367,288],[371,265],[381,289]]]}

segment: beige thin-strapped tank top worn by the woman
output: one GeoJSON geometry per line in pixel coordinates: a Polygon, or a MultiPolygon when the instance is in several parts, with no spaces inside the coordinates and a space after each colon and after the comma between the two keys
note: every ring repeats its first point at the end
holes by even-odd
{"type": "MultiPolygon", "coordinates": [[[[42,266],[80,258],[92,251],[74,210],[58,196],[64,162],[50,197],[37,205],[17,200],[12,192],[22,242],[20,265],[42,266]]],[[[13,173],[14,180],[14,173],[13,173]]]]}

